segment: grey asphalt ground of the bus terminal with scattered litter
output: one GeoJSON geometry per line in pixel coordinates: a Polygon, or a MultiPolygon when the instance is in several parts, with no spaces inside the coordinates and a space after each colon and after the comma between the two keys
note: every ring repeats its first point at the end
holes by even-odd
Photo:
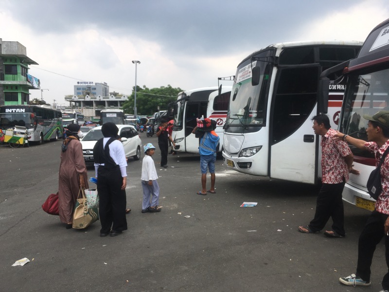
{"type": "MultiPolygon", "coordinates": [[[[156,136],[141,133],[141,139],[143,145],[158,145],[156,136]]],[[[141,213],[143,154],[140,161],[129,160],[126,193],[132,212],[122,235],[99,237],[99,221],[85,230],[66,230],[41,208],[58,188],[60,145],[0,146],[1,292],[382,289],[383,242],[373,258],[370,287],[338,283],[355,272],[358,236],[369,211],[345,203],[345,238],[301,234],[297,227],[313,218],[317,187],[240,174],[217,160],[216,194],[196,195],[198,155],[169,155],[165,169],[159,167],[157,148],[159,213],[141,213]],[[258,205],[240,207],[244,201],[258,205]],[[24,257],[30,262],[12,266],[24,257]]],[[[94,176],[93,167],[88,176],[94,176]]]]}

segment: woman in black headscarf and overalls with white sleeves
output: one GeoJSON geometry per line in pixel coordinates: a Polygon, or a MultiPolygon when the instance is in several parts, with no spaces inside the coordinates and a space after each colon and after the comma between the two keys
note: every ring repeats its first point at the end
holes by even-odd
{"type": "Polygon", "coordinates": [[[117,140],[118,127],[106,123],[101,131],[104,138],[93,148],[93,159],[97,178],[97,192],[100,198],[100,236],[118,236],[127,230],[125,218],[127,185],[127,162],[122,143],[117,140]]]}

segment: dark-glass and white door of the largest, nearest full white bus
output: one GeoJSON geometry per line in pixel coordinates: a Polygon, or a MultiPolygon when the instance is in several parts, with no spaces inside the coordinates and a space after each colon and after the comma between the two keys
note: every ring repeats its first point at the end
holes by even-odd
{"type": "Polygon", "coordinates": [[[319,65],[279,68],[270,115],[269,177],[316,183],[318,141],[311,118],[317,113],[319,65]]]}

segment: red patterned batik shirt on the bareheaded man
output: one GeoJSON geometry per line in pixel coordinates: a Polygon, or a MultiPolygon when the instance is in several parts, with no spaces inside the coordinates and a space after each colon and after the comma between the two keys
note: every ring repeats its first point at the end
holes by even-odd
{"type": "Polygon", "coordinates": [[[335,141],[336,130],[328,129],[321,137],[321,173],[322,183],[341,183],[349,180],[349,168],[344,157],[351,154],[350,147],[344,141],[335,141]]]}

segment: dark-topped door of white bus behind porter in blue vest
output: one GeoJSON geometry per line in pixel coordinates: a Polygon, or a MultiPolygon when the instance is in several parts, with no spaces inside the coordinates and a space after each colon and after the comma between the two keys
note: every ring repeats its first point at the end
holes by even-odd
{"type": "MultiPolygon", "coordinates": [[[[185,151],[197,152],[199,146],[199,139],[191,134],[193,129],[197,126],[196,118],[207,117],[208,101],[196,101],[186,103],[184,127],[185,127],[185,151]]],[[[174,139],[174,137],[173,137],[174,139]]]]}

